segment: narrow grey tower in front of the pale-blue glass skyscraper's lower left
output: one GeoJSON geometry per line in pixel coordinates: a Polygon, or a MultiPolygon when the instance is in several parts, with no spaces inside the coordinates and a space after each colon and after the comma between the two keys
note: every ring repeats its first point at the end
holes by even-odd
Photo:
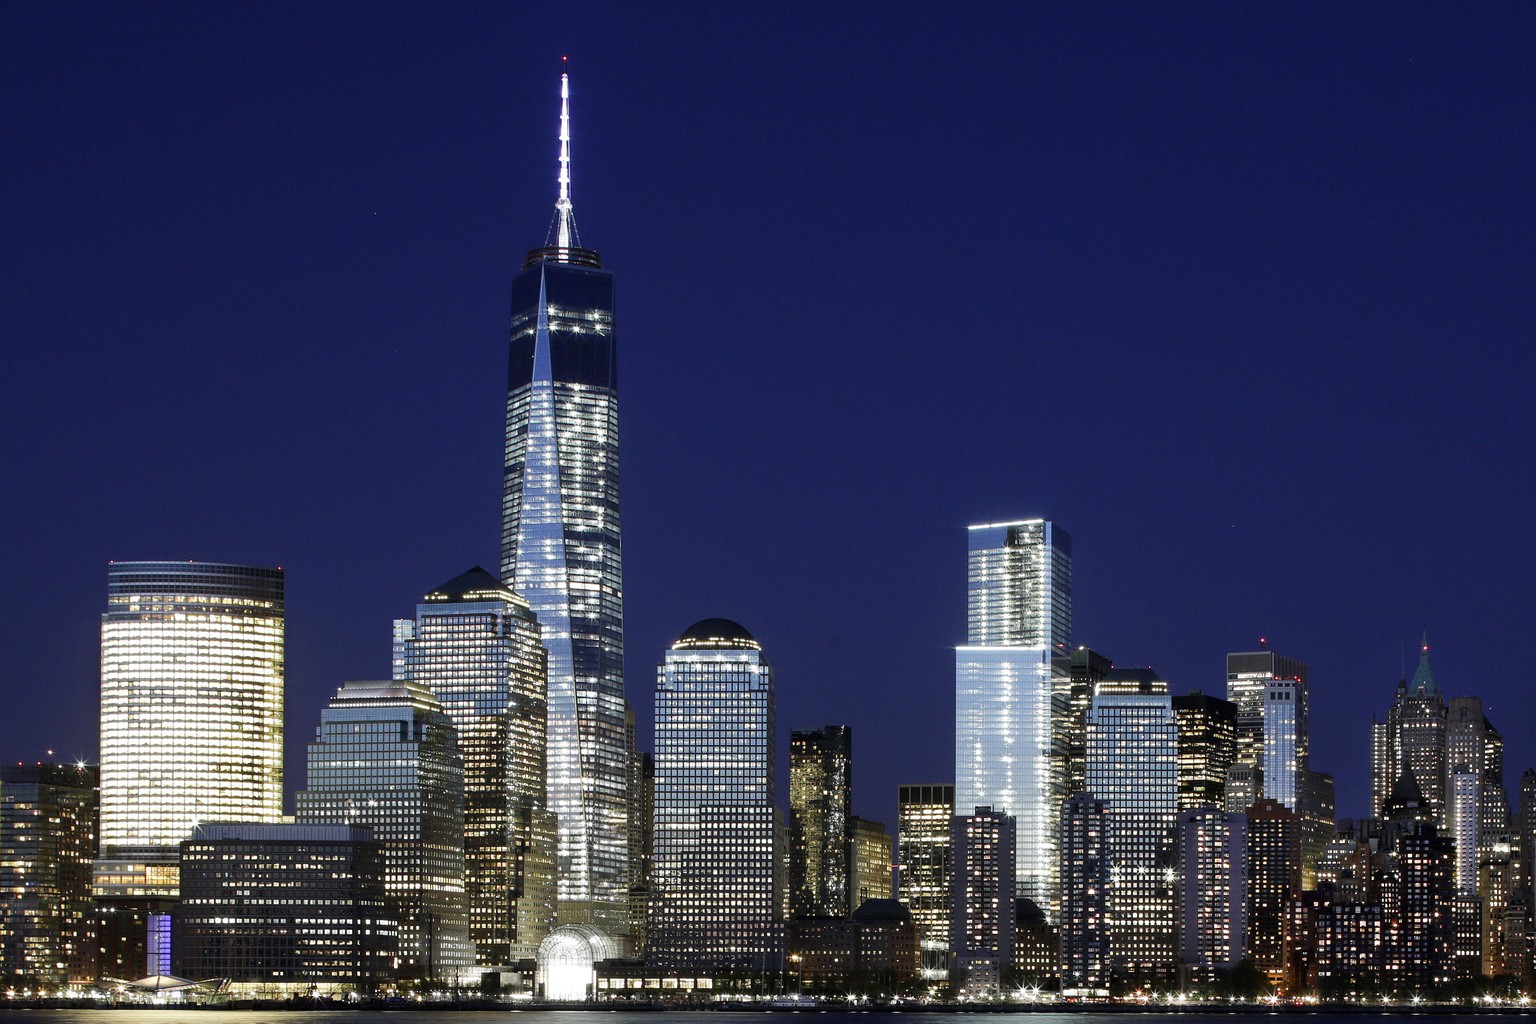
{"type": "Polygon", "coordinates": [[[992,808],[951,823],[949,949],[966,998],[995,995],[1014,963],[1014,818],[992,808]]]}

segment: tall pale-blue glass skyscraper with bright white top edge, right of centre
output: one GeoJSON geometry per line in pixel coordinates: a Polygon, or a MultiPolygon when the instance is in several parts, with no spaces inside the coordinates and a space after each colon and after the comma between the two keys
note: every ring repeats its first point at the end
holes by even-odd
{"type": "Polygon", "coordinates": [[[969,528],[955,649],[955,806],[1017,823],[1017,895],[1054,918],[1066,791],[1072,540],[1044,519],[969,528]]]}

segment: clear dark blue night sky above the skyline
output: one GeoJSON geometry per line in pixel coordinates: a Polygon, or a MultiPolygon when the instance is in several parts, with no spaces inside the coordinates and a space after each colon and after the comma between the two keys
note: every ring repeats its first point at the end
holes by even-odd
{"type": "MultiPolygon", "coordinates": [[[[0,8],[0,757],[97,749],[109,559],[283,565],[289,788],[495,568],[508,282],[617,279],[628,689],[725,616],[857,809],[952,778],[965,527],[1075,640],[1312,665],[1366,809],[1419,629],[1536,766],[1536,8],[0,8]]],[[[1410,665],[1412,671],[1412,665],[1410,665]]]]}

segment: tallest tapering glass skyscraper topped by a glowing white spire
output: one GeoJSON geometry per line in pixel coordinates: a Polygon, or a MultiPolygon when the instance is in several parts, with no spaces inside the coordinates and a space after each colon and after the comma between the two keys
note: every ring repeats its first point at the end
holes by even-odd
{"type": "Polygon", "coordinates": [[[630,887],[619,554],[619,378],[613,275],[582,249],[561,77],[554,244],[511,282],[501,577],[544,626],[548,801],[561,920],[624,930],[630,887]]]}

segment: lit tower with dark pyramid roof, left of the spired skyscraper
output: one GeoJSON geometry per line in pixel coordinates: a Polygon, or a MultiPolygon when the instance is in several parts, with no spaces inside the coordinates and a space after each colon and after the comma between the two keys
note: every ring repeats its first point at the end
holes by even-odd
{"type": "Polygon", "coordinates": [[[531,958],[554,926],[545,659],[528,602],[479,567],[395,622],[395,677],[427,686],[458,731],[464,884],[481,964],[531,958]]]}

